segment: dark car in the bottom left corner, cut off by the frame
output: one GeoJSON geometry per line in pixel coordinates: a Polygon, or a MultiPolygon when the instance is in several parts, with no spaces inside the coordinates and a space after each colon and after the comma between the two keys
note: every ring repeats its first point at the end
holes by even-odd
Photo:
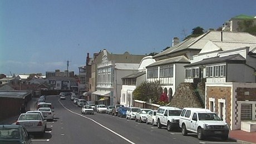
{"type": "Polygon", "coordinates": [[[19,125],[0,125],[0,134],[0,143],[32,143],[26,128],[19,125]]]}

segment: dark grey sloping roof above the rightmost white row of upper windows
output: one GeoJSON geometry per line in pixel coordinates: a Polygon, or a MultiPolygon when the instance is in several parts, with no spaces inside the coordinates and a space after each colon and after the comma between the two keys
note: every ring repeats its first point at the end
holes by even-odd
{"type": "Polygon", "coordinates": [[[184,67],[192,67],[192,66],[199,66],[202,64],[211,64],[211,63],[220,63],[220,62],[236,62],[236,63],[245,63],[245,58],[241,56],[240,54],[232,54],[225,57],[211,57],[211,58],[205,58],[202,61],[195,62],[188,64],[184,67]]]}

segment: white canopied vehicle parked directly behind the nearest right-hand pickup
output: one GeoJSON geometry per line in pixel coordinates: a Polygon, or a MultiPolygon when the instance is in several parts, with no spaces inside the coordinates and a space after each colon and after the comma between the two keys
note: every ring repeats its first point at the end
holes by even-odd
{"type": "Polygon", "coordinates": [[[166,126],[168,131],[179,128],[181,109],[177,107],[159,107],[156,112],[157,127],[166,126]]]}

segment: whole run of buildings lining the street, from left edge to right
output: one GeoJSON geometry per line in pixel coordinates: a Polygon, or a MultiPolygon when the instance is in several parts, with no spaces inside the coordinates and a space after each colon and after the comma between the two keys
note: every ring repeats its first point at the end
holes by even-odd
{"type": "Polygon", "coordinates": [[[56,70],[46,72],[46,77],[3,77],[0,90],[22,91],[25,84],[33,84],[37,86],[23,97],[40,95],[40,90],[65,90],[97,104],[131,107],[132,92],[141,82],[159,80],[169,106],[207,108],[230,130],[246,129],[244,121],[256,121],[256,36],[242,32],[238,23],[244,19],[256,22],[255,17],[233,17],[220,31],[184,41],[175,37],[170,48],[154,56],[102,49],[91,58],[87,53],[77,76],[56,70]]]}

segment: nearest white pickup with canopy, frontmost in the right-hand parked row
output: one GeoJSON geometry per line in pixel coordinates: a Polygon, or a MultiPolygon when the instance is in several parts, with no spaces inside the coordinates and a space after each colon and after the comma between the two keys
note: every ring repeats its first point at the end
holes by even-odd
{"type": "Polygon", "coordinates": [[[197,133],[199,140],[204,140],[206,136],[220,136],[223,140],[228,139],[228,124],[208,109],[183,108],[179,126],[182,135],[185,136],[188,132],[194,132],[197,133]]]}

